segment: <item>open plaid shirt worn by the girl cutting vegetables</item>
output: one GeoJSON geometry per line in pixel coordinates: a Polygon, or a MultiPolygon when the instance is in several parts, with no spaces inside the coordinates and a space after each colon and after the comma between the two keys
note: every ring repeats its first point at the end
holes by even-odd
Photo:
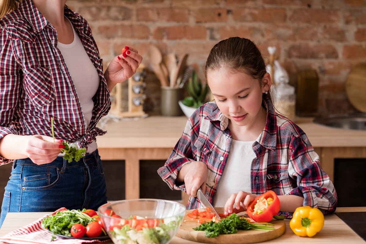
{"type": "MultiPolygon", "coordinates": [[[[266,97],[263,106],[267,108],[267,121],[252,146],[257,157],[251,164],[251,193],[260,195],[272,190],[277,195],[302,196],[304,206],[317,207],[324,214],[333,213],[337,205],[335,188],[320,167],[307,136],[292,121],[277,115],[266,97]]],[[[158,173],[171,189],[185,191],[184,184],[175,184],[178,171],[189,162],[204,162],[208,169],[206,196],[213,203],[230,144],[228,118],[216,103],[209,102],[188,119],[182,137],[158,173]]],[[[187,208],[198,206],[199,200],[190,197],[187,208]]]]}

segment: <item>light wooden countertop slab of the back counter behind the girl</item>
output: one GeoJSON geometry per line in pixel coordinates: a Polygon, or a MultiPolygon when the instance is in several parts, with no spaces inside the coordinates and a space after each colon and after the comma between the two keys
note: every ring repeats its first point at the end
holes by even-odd
{"type": "MultiPolygon", "coordinates": [[[[109,120],[108,133],[97,137],[98,148],[173,148],[182,135],[187,117],[149,116],[138,120],[109,120]]],[[[298,117],[313,147],[366,147],[366,131],[338,129],[298,117]]]]}

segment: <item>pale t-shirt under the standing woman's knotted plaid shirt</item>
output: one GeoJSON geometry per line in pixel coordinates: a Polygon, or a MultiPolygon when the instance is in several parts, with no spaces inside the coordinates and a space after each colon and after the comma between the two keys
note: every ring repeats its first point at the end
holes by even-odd
{"type": "MultiPolygon", "coordinates": [[[[71,44],[58,42],[57,48],[60,50],[71,79],[74,82],[76,93],[78,94],[79,102],[83,110],[85,126],[87,127],[91,121],[94,108],[93,97],[98,90],[100,77],[87,55],[74,26],[72,26],[72,30],[74,31],[74,41],[71,44]]],[[[97,142],[94,140],[88,145],[87,152],[92,153],[96,149],[97,142]]]]}

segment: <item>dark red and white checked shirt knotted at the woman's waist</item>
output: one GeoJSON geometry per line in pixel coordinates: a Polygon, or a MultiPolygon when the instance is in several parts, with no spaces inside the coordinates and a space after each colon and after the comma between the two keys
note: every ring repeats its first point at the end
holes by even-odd
{"type": "MultiPolygon", "coordinates": [[[[89,126],[85,127],[74,84],[57,49],[55,28],[31,0],[23,0],[17,10],[0,20],[0,139],[10,133],[52,136],[51,117],[55,137],[78,141],[79,147],[87,147],[97,135],[105,134],[96,124],[108,113],[111,102],[97,45],[81,15],[65,6],[65,16],[100,76],[89,126]]],[[[0,165],[8,162],[0,158],[0,165]]]]}

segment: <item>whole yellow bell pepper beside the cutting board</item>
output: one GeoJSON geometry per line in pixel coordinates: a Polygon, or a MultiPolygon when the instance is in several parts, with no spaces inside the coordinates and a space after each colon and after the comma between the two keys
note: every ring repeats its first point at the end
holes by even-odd
{"type": "Polygon", "coordinates": [[[314,236],[323,226],[323,213],[310,206],[298,207],[290,221],[290,228],[298,236],[314,236]]]}

